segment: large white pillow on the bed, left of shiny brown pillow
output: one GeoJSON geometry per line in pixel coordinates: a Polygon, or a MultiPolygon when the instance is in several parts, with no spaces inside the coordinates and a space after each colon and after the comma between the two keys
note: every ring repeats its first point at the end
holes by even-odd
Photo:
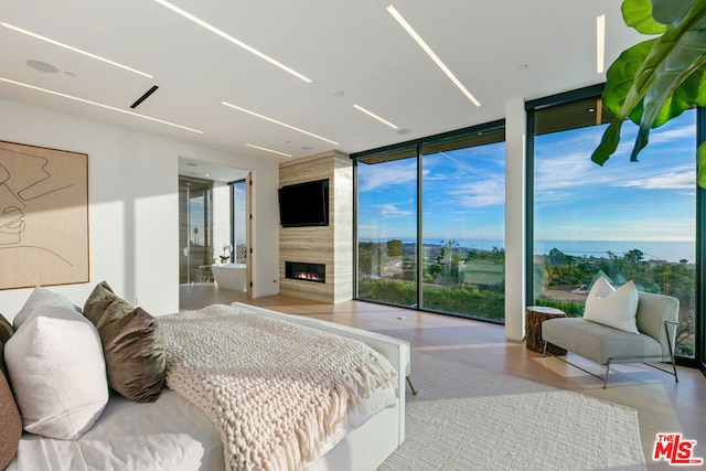
{"type": "Polygon", "coordinates": [[[100,338],[71,302],[44,292],[38,299],[50,302],[33,303],[4,345],[22,426],[45,437],[77,439],[108,403],[100,338]]]}

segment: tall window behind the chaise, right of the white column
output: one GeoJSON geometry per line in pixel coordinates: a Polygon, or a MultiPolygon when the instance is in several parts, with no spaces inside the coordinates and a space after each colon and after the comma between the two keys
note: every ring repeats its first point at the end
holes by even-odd
{"type": "Polygon", "coordinates": [[[634,280],[639,290],[678,298],[676,353],[693,358],[699,266],[696,109],[652,130],[640,162],[630,162],[638,127],[625,122],[621,147],[599,167],[590,156],[611,119],[600,89],[566,97],[528,104],[528,302],[579,317],[599,276],[613,286],[634,280]]]}

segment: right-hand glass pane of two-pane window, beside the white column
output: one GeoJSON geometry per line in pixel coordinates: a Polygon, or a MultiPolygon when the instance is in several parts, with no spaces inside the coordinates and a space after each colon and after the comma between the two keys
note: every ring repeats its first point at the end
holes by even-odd
{"type": "Polygon", "coordinates": [[[502,321],[504,130],[422,144],[421,156],[421,307],[502,321]]]}

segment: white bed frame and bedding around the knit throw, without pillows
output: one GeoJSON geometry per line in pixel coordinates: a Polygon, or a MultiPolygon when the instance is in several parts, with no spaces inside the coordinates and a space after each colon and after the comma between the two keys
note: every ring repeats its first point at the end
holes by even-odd
{"type": "MultiPolygon", "coordinates": [[[[405,439],[405,377],[409,344],[397,339],[247,304],[233,306],[364,342],[397,371],[396,405],[349,431],[309,469],[374,470],[405,439]]],[[[24,433],[10,470],[223,470],[224,453],[215,426],[199,408],[170,389],[156,403],[138,404],[117,394],[97,422],[78,440],[24,433]]]]}

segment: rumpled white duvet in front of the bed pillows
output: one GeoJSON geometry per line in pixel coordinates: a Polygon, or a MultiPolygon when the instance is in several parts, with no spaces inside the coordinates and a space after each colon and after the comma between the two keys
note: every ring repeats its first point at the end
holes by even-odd
{"type": "Polygon", "coordinates": [[[152,404],[115,395],[78,440],[24,433],[8,470],[221,471],[223,448],[203,413],[163,389],[152,404]]]}

